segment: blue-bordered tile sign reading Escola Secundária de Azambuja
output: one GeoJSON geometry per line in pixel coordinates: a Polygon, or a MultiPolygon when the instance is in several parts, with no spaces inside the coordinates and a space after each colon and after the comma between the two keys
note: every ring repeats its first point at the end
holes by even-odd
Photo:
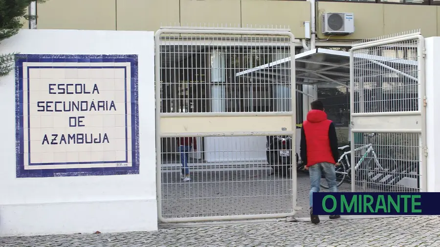
{"type": "Polygon", "coordinates": [[[136,55],[17,55],[17,177],[139,173],[136,55]]]}

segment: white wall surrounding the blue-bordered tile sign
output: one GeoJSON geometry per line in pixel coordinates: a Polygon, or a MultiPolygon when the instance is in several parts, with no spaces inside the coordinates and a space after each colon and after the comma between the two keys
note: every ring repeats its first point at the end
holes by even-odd
{"type": "Polygon", "coordinates": [[[0,236],[157,229],[154,32],[22,30],[0,54],[138,56],[139,174],[16,177],[15,75],[0,78],[0,236]]]}

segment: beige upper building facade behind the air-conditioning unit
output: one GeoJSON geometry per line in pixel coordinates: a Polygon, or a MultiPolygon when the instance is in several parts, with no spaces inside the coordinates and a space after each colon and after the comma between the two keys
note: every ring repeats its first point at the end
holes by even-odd
{"type": "MultiPolygon", "coordinates": [[[[421,29],[423,36],[440,35],[438,0],[316,1],[317,40],[360,40],[421,29]],[[355,32],[325,36],[325,12],[354,14],[355,32]]],[[[160,26],[269,26],[288,27],[305,38],[311,22],[306,0],[49,0],[38,4],[39,29],[146,30],[160,26]]],[[[24,23],[27,25],[27,22],[24,23]]]]}

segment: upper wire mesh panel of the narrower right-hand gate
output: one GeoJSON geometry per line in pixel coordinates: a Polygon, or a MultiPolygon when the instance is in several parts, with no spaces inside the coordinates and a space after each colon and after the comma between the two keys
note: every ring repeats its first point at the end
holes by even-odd
{"type": "Polygon", "coordinates": [[[354,113],[418,110],[418,40],[355,51],[354,113]]]}

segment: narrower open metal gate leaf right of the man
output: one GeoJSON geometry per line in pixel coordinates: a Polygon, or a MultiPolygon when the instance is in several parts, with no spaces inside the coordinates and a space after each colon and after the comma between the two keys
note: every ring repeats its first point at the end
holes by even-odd
{"type": "Polygon", "coordinates": [[[352,191],[426,191],[420,33],[354,44],[350,94],[352,191]]]}

